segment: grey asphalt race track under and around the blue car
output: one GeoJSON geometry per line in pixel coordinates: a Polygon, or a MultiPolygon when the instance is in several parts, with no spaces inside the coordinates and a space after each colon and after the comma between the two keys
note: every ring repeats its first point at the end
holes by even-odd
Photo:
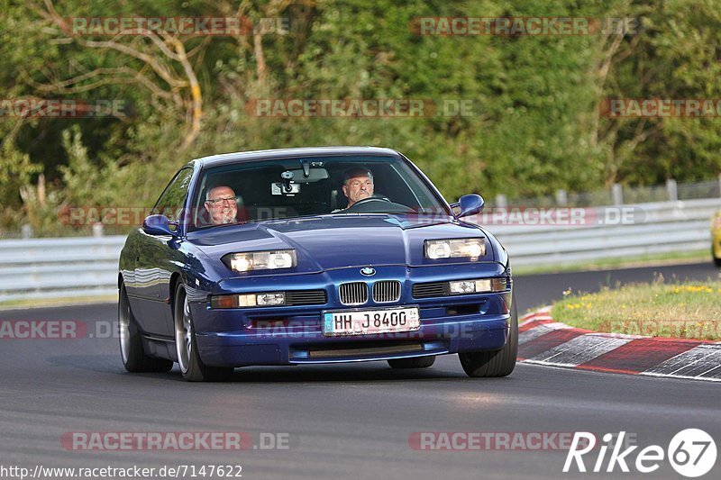
{"type": "MultiPolygon", "coordinates": [[[[593,291],[651,280],[654,271],[667,281],[718,275],[701,264],[522,276],[516,278],[516,295],[525,309],[561,297],[569,286],[593,291]]],[[[530,365],[519,365],[507,378],[470,379],[455,356],[419,371],[391,370],[385,362],[249,367],[237,369],[232,382],[188,384],[177,368],[157,375],[124,372],[117,339],[96,334],[112,325],[114,309],[102,304],[0,312],[0,320],[87,322],[95,332],[82,339],[0,340],[0,477],[10,477],[2,472],[9,466],[205,464],[240,465],[242,478],[250,479],[680,478],[666,459],[652,474],[639,474],[633,465],[637,452],[652,444],[665,449],[675,433],[689,428],[706,430],[721,449],[718,384],[530,365]],[[264,439],[280,434],[273,438],[287,440],[287,448],[82,451],[61,441],[68,432],[87,431],[242,431],[256,446],[261,434],[267,434],[264,439]],[[563,474],[567,448],[507,449],[503,443],[495,450],[414,448],[415,432],[440,431],[493,433],[486,439],[499,442],[508,434],[529,443],[533,436],[527,434],[537,432],[550,439],[551,448],[558,444],[554,432],[590,431],[600,439],[625,431],[640,448],[626,457],[634,473],[620,474],[616,466],[612,474],[581,474],[574,466],[563,474]]],[[[443,437],[432,438],[432,445],[444,445],[443,437]]],[[[584,457],[588,469],[601,451],[584,457]]],[[[707,477],[718,478],[719,472],[716,465],[707,477]]]]}

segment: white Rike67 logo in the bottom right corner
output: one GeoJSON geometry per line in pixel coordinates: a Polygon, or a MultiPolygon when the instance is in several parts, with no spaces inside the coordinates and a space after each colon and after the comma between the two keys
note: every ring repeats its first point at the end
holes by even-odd
{"type": "Polygon", "coordinates": [[[596,448],[597,439],[593,433],[577,431],[571,441],[563,473],[569,473],[574,466],[581,473],[587,472],[584,460],[593,462],[593,457],[596,457],[596,461],[589,465],[589,468],[594,473],[612,473],[618,470],[629,473],[633,467],[635,472],[650,474],[661,468],[664,459],[668,458],[679,475],[694,478],[706,475],[716,465],[716,442],[707,432],[698,429],[681,430],[674,435],[665,450],[659,445],[650,445],[634,452],[638,446],[625,445],[625,431],[620,431],[617,435],[607,433],[598,448],[598,455],[596,448]],[[624,447],[627,448],[622,450],[624,447]],[[609,449],[611,453],[607,457],[609,449]],[[587,457],[584,459],[584,456],[587,457]]]}

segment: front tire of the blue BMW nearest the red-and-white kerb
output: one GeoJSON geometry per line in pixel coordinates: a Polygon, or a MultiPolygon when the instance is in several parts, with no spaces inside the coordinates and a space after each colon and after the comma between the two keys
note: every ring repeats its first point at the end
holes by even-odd
{"type": "Polygon", "coordinates": [[[508,376],[516,367],[518,356],[518,312],[516,298],[511,301],[511,325],[508,340],[503,349],[459,353],[461,367],[468,376],[508,376]]]}

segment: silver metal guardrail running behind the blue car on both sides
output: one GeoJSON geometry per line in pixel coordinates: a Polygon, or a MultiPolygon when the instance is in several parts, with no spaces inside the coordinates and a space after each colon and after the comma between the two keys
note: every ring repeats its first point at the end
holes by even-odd
{"type": "MultiPolygon", "coordinates": [[[[709,222],[712,213],[721,209],[721,198],[593,207],[585,213],[603,218],[608,208],[633,208],[635,222],[566,226],[480,223],[506,246],[514,267],[561,265],[710,249],[709,222]]],[[[124,240],[124,236],[0,240],[0,302],[115,294],[124,240]]]]}

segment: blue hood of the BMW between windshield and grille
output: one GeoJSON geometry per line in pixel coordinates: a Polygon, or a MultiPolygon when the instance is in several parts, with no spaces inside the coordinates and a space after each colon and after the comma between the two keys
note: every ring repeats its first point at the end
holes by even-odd
{"type": "MultiPolygon", "coordinates": [[[[408,219],[406,215],[376,213],[214,227],[193,232],[188,240],[214,259],[232,252],[296,249],[295,273],[309,273],[342,267],[459,263],[459,259],[424,258],[424,240],[469,237],[488,237],[488,233],[451,217],[408,219]]],[[[494,259],[492,243],[487,241],[486,256],[481,260],[494,259]]],[[[258,272],[262,273],[269,274],[258,272]]]]}

